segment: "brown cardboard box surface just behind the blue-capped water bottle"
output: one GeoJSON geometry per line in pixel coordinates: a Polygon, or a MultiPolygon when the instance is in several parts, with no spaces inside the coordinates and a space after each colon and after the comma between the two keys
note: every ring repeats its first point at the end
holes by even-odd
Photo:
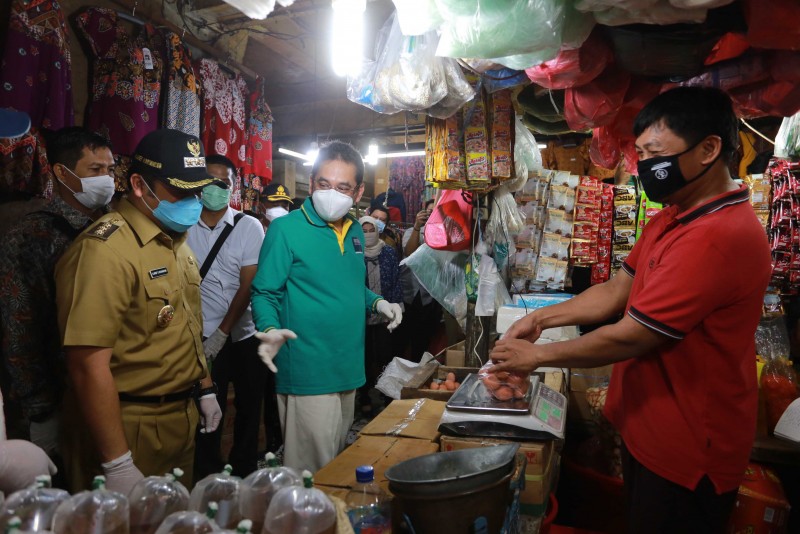
{"type": "MultiPolygon", "coordinates": [[[[356,467],[371,465],[375,469],[375,481],[384,490],[389,491],[389,481],[384,476],[387,469],[402,461],[431,454],[438,450],[437,443],[421,439],[362,435],[339,456],[316,472],[314,485],[328,488],[351,488],[356,483],[356,467]]],[[[331,490],[326,488],[323,491],[331,490]]]]}

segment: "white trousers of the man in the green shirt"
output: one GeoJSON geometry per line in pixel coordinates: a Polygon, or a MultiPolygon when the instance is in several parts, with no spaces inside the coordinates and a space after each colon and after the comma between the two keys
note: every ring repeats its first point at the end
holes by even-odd
{"type": "Polygon", "coordinates": [[[356,391],[278,395],[283,465],[316,473],[345,447],[353,424],[356,391]]]}

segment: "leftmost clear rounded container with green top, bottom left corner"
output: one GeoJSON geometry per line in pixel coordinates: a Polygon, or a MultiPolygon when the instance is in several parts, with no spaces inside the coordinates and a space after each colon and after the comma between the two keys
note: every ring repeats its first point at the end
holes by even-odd
{"type": "Polygon", "coordinates": [[[50,476],[41,475],[33,487],[9,495],[0,506],[0,531],[9,526],[13,517],[20,520],[22,530],[51,530],[56,509],[69,499],[69,493],[50,484],[50,476]]]}

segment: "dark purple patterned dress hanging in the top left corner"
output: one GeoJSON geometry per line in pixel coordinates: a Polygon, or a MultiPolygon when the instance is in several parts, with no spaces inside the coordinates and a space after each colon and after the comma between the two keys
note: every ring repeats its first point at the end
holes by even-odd
{"type": "Polygon", "coordinates": [[[0,61],[0,108],[25,111],[33,126],[73,124],[69,36],[55,0],[11,0],[0,61]]]}

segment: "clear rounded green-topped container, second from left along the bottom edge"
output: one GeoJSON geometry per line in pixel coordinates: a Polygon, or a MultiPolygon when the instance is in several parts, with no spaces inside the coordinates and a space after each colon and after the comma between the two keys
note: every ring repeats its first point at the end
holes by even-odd
{"type": "Polygon", "coordinates": [[[97,476],[92,491],[82,491],[62,502],[53,517],[55,534],[128,534],[128,498],[106,490],[106,477],[97,476]]]}

